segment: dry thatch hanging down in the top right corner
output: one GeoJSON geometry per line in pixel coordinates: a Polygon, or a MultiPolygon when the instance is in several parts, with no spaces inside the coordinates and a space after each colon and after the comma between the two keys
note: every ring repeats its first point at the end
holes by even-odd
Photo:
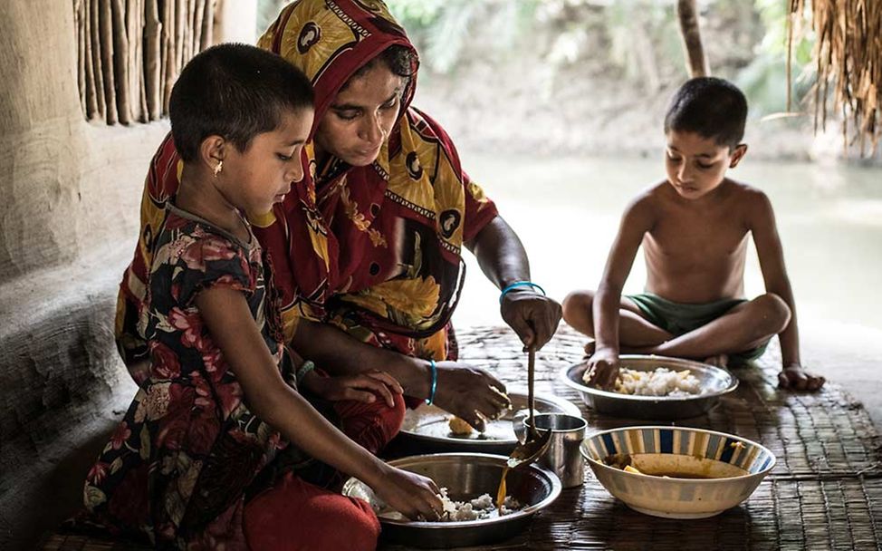
{"type": "MultiPolygon", "coordinates": [[[[842,114],[845,147],[875,152],[882,133],[882,0],[790,0],[789,50],[807,12],[817,40],[815,131],[832,108],[842,114]]],[[[788,89],[789,81],[788,67],[788,89]]]]}

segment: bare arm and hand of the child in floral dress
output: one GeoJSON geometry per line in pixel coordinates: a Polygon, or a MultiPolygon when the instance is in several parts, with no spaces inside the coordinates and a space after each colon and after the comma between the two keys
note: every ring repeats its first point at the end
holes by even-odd
{"type": "Polygon", "coordinates": [[[440,500],[431,480],[375,458],[285,384],[240,292],[216,287],[202,291],[195,300],[255,415],[315,459],[363,480],[407,517],[436,517],[440,500]]]}

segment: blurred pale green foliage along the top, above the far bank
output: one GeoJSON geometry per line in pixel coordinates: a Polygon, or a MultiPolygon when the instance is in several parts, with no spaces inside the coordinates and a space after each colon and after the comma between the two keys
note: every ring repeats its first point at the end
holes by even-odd
{"type": "MultiPolygon", "coordinates": [[[[259,33],[289,1],[258,0],[259,33]]],[[[387,0],[387,5],[432,73],[453,73],[458,64],[475,57],[504,63],[530,53],[545,65],[551,80],[562,68],[586,60],[617,69],[632,83],[647,79],[647,63],[657,72],[655,78],[685,78],[675,0],[387,0]]],[[[784,111],[786,0],[753,0],[751,5],[704,0],[699,8],[703,21],[715,17],[735,22],[738,32],[758,40],[753,57],[742,53],[744,62],[750,59],[750,63],[729,73],[747,94],[753,114],[784,111]]],[[[714,32],[719,32],[719,25],[714,32]]],[[[713,32],[703,28],[702,33],[707,47],[715,40],[713,32]]],[[[794,110],[809,92],[813,43],[811,34],[798,34],[794,43],[794,110]]],[[[710,61],[714,67],[714,59],[710,61]]],[[[730,63],[728,70],[732,69],[730,63]]]]}

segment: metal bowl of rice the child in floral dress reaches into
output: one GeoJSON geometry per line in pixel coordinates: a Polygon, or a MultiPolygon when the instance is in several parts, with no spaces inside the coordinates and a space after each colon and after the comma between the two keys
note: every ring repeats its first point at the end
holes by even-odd
{"type": "MultiPolygon", "coordinates": [[[[442,453],[419,455],[389,461],[399,469],[432,478],[447,488],[451,499],[474,499],[482,494],[496,495],[503,474],[505,457],[484,453],[442,453]]],[[[506,478],[508,495],[526,507],[504,517],[459,522],[419,522],[380,517],[380,537],[388,542],[417,547],[481,546],[516,536],[530,524],[532,516],[551,505],[561,493],[561,480],[537,465],[513,470],[506,478]]],[[[362,498],[374,510],[382,503],[357,478],[343,485],[343,495],[362,498]]]]}

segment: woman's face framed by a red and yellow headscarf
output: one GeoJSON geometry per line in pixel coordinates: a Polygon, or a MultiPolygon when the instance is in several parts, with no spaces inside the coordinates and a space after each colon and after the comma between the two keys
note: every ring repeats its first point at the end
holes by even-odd
{"type": "Polygon", "coordinates": [[[338,92],[315,132],[318,156],[330,153],[353,167],[377,160],[398,119],[405,79],[384,63],[350,79],[338,92]]]}

